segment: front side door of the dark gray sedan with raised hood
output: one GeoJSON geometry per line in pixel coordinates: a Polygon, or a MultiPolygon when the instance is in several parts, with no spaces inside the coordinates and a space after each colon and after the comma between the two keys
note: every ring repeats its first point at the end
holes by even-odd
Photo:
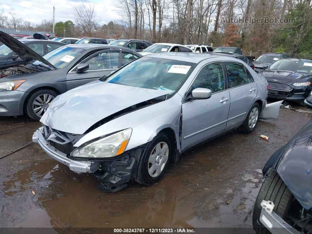
{"type": "Polygon", "coordinates": [[[121,67],[121,52],[121,49],[102,50],[79,62],[78,64],[88,63],[89,69],[85,72],[76,72],[78,64],[72,67],[66,76],[67,89],[70,90],[94,81],[103,75],[109,75],[111,72],[121,67]]]}

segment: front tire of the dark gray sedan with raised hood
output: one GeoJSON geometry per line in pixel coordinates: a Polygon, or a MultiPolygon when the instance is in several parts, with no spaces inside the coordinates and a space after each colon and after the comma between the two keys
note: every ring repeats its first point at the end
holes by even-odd
{"type": "Polygon", "coordinates": [[[27,98],[27,102],[26,102],[26,106],[25,106],[25,112],[26,114],[31,117],[33,120],[37,120],[39,121],[41,119],[41,116],[44,114],[44,112],[46,112],[46,109],[48,108],[50,102],[57,96],[57,93],[54,92],[51,89],[39,89],[35,92],[33,92],[28,98],[27,98]],[[51,99],[50,99],[51,97],[51,99]],[[46,98],[46,100],[44,100],[46,98]],[[37,100],[41,100],[41,102],[37,101],[37,100]],[[36,100],[36,102],[34,102],[36,100]],[[35,103],[39,103],[42,104],[42,107],[40,108],[39,105],[36,105],[35,103]],[[41,110],[42,112],[40,113],[40,115],[37,115],[34,111],[34,109],[36,108],[40,108],[38,109],[39,113],[41,110]]]}

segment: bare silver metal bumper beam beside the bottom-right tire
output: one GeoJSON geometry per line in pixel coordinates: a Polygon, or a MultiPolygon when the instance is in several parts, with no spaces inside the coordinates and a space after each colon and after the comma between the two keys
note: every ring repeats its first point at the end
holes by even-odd
{"type": "Polygon", "coordinates": [[[273,211],[274,203],[271,201],[261,202],[262,210],[260,222],[272,234],[299,234],[295,228],[286,223],[277,213],[273,211]]]}

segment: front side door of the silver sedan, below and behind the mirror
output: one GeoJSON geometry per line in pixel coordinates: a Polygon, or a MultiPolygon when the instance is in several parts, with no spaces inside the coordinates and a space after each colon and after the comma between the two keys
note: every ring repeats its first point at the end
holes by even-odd
{"type": "Polygon", "coordinates": [[[223,132],[229,108],[230,93],[221,62],[206,64],[197,74],[182,103],[182,150],[223,132]],[[212,96],[202,100],[189,99],[195,88],[208,88],[212,96]]]}

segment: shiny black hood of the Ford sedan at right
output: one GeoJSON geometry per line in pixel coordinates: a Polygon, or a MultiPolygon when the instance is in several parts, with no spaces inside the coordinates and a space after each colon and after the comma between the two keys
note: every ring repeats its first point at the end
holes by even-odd
{"type": "Polygon", "coordinates": [[[280,70],[273,71],[266,69],[262,72],[262,76],[266,78],[295,83],[295,82],[305,82],[307,78],[312,77],[312,74],[291,71],[280,71],[280,70]]]}

